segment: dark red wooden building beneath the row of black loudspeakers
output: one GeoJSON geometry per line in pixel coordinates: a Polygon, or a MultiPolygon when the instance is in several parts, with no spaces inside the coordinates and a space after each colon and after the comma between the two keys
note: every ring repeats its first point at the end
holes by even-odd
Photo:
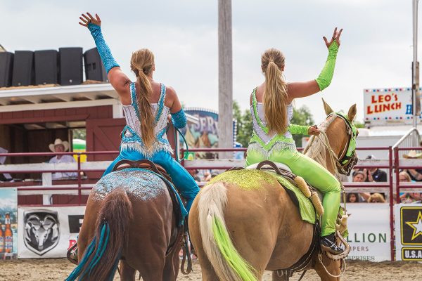
{"type": "MultiPolygon", "coordinates": [[[[86,82],[85,82],[86,83],[86,82]]],[[[198,122],[188,116],[188,122],[198,122]]],[[[77,86],[28,86],[0,89],[0,147],[8,152],[49,152],[49,143],[56,138],[70,142],[74,129],[86,129],[87,151],[117,151],[120,134],[126,122],[117,93],[110,84],[81,84],[77,86]]],[[[174,130],[167,132],[174,147],[174,130]]],[[[113,160],[117,155],[90,155],[89,162],[113,160]]],[[[51,157],[8,157],[9,164],[48,162],[51,157]]],[[[1,166],[0,166],[1,168],[1,166]]],[[[1,170],[1,169],[0,169],[1,170]]],[[[95,183],[101,172],[91,172],[84,183],[95,183]]],[[[39,181],[41,173],[13,174],[13,178],[39,181]]],[[[75,181],[74,181],[75,182],[75,181]]],[[[5,186],[2,183],[1,186],[5,186]]],[[[16,183],[9,186],[37,185],[16,183]]],[[[38,183],[41,184],[41,183],[38,183]]],[[[53,181],[56,184],[68,182],[53,181]]],[[[69,183],[70,184],[70,183],[69,183]]],[[[7,184],[6,184],[7,186],[7,184]]],[[[55,195],[56,196],[56,195],[55,195]]],[[[60,195],[57,195],[60,196],[60,195]]],[[[67,204],[71,199],[54,200],[55,204],[67,204]]],[[[20,204],[39,204],[34,197],[20,204]],[[28,201],[29,200],[29,201],[28,201]]]]}

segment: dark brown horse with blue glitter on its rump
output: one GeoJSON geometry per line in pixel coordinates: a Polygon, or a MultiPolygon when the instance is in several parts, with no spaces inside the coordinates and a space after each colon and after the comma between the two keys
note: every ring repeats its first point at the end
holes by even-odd
{"type": "Polygon", "coordinates": [[[89,195],[77,241],[79,265],[67,280],[176,280],[181,229],[167,187],[145,170],[114,171],[89,195]]]}

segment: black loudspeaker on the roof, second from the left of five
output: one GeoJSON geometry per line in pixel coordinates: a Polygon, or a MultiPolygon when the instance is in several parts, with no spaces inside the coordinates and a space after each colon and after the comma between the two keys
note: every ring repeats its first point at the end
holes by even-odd
{"type": "Polygon", "coordinates": [[[15,51],[13,58],[12,86],[34,85],[34,52],[15,51]]]}

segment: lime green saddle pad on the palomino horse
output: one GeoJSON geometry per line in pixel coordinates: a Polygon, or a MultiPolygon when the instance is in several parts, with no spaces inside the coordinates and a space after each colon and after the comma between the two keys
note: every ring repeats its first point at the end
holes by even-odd
{"type": "Polygon", "coordinates": [[[298,198],[298,202],[299,202],[299,211],[300,211],[300,216],[302,217],[302,220],[306,221],[307,223],[314,224],[315,219],[316,219],[316,213],[315,213],[314,205],[312,205],[311,200],[307,199],[307,197],[303,195],[302,191],[300,191],[300,189],[296,185],[293,185],[293,183],[288,181],[287,178],[284,178],[283,176],[279,176],[278,174],[273,173],[271,171],[265,171],[265,172],[268,174],[271,174],[271,176],[274,176],[281,185],[283,185],[288,190],[291,190],[296,195],[296,198],[298,198]]]}

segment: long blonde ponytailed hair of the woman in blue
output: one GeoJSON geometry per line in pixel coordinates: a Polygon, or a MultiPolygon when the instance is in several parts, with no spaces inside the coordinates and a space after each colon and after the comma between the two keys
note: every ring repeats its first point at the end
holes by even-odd
{"type": "Polygon", "coordinates": [[[146,150],[151,150],[155,142],[155,120],[151,104],[149,103],[150,98],[153,96],[153,89],[147,77],[153,71],[153,65],[154,55],[148,49],[143,48],[132,54],[131,68],[136,74],[136,81],[140,90],[137,102],[139,105],[142,141],[146,150]]]}

